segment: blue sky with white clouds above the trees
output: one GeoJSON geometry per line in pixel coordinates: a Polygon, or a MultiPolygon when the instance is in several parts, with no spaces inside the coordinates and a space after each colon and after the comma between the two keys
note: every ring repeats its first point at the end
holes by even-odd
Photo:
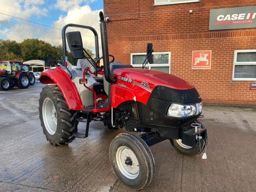
{"type": "MultiPolygon", "coordinates": [[[[92,26],[100,36],[103,0],[0,0],[0,5],[0,39],[21,43],[27,38],[38,38],[62,45],[61,29],[69,23],[92,26]]],[[[81,31],[83,45],[92,49],[94,36],[87,31],[81,31]]]]}

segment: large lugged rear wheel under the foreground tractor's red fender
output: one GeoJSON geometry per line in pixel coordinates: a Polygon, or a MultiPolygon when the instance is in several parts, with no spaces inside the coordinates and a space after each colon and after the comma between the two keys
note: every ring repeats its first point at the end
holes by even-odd
{"type": "Polygon", "coordinates": [[[39,99],[39,118],[47,140],[57,146],[72,142],[76,111],[70,110],[57,85],[42,89],[39,99]]]}

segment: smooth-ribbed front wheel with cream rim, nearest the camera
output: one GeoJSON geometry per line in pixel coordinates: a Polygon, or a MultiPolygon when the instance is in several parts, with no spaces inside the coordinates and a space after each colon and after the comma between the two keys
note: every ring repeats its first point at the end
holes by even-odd
{"type": "Polygon", "coordinates": [[[142,138],[130,133],[116,136],[109,147],[112,169],[133,190],[147,187],[154,176],[154,157],[142,138]]]}

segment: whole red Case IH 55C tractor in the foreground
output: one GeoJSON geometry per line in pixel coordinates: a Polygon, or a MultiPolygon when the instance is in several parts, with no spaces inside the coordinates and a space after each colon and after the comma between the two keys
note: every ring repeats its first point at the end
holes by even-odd
{"type": "MultiPolygon", "coordinates": [[[[102,12],[100,33],[103,56],[99,58],[95,29],[77,24],[68,24],[62,29],[65,60],[55,61],[48,55],[45,63],[55,63],[56,67],[46,69],[40,76],[41,83],[54,84],[45,86],[40,93],[41,125],[47,140],[53,145],[65,145],[76,137],[88,137],[93,120],[125,129],[125,133],[117,135],[111,142],[110,163],[122,183],[139,190],[147,187],[154,176],[154,157],[149,146],[170,140],[174,149],[185,156],[197,156],[205,149],[206,128],[197,120],[202,113],[202,100],[193,85],[178,77],[114,62],[114,57],[108,52],[102,12]],[[95,35],[97,59],[86,56],[95,71],[83,69],[83,78],[79,80],[87,88],[83,92],[78,92],[64,63],[67,62],[66,39],[74,58],[85,58],[88,54],[83,48],[80,32],[66,33],[68,27],[89,29],[95,35]],[[110,62],[109,56],[112,58],[110,62]],[[103,59],[104,66],[99,66],[100,59],[103,59]],[[104,76],[100,78],[98,74],[103,71],[104,76]],[[90,74],[99,82],[93,88],[86,86],[90,74]],[[103,88],[104,93],[97,91],[103,88]],[[78,131],[78,122],[86,123],[85,134],[78,131]]],[[[149,62],[152,62],[152,51],[149,43],[146,58],[149,62]]]]}

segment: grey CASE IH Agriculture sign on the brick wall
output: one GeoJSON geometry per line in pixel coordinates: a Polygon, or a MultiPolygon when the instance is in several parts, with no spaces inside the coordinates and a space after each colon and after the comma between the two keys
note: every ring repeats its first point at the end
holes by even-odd
{"type": "Polygon", "coordinates": [[[211,9],[209,30],[256,28],[256,6],[211,9]]]}

